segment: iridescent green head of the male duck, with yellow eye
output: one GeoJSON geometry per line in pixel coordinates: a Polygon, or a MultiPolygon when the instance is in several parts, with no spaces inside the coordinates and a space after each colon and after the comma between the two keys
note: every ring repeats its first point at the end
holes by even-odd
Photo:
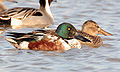
{"type": "Polygon", "coordinates": [[[75,27],[70,23],[62,23],[56,30],[57,34],[62,38],[73,38],[76,31],[75,27]]]}

